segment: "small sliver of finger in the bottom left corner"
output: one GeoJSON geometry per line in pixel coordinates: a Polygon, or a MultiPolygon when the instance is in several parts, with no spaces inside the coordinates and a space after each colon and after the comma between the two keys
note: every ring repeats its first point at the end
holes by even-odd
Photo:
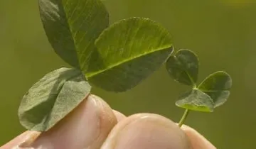
{"type": "Polygon", "coordinates": [[[9,141],[5,145],[1,146],[0,149],[10,149],[22,143],[31,143],[39,136],[39,132],[36,131],[26,131],[21,133],[21,135],[17,136],[13,140],[9,141]]]}

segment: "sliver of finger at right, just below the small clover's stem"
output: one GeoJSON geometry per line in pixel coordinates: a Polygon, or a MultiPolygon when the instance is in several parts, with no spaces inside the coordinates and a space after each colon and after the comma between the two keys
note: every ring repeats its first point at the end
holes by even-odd
{"type": "Polygon", "coordinates": [[[198,133],[193,128],[183,125],[181,129],[186,133],[186,135],[190,139],[191,145],[193,146],[194,149],[216,149],[212,143],[210,143],[206,138],[204,138],[200,133],[198,133]]]}

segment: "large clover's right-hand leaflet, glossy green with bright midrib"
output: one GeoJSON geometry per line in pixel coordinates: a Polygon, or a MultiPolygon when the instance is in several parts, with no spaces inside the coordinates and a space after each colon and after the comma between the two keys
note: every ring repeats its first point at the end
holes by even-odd
{"type": "Polygon", "coordinates": [[[97,38],[100,63],[86,77],[107,91],[124,92],[166,62],[173,51],[171,41],[169,31],[147,18],[114,23],[97,38]]]}

